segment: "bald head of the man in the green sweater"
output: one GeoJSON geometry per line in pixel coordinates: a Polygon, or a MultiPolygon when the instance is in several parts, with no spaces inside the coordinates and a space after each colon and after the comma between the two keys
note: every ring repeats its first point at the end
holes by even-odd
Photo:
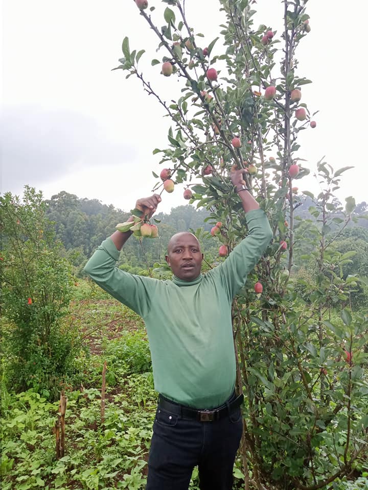
{"type": "Polygon", "coordinates": [[[179,279],[192,281],[200,274],[203,254],[193,233],[182,232],[172,236],[165,258],[173,274],[179,279]]]}

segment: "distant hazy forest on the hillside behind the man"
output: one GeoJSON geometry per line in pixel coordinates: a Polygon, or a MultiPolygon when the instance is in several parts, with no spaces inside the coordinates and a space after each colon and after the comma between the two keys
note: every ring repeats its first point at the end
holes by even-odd
{"type": "MultiPolygon", "coordinates": [[[[47,201],[48,217],[55,223],[56,237],[65,248],[67,258],[76,267],[76,274],[81,275],[86,260],[93,254],[99,244],[113,231],[118,223],[124,222],[130,211],[116,209],[112,205],[102,204],[97,199],[80,199],[75,194],[65,191],[59,192],[47,201]]],[[[340,206],[336,201],[335,208],[340,206]]],[[[303,228],[308,219],[313,218],[311,212],[313,202],[309,197],[303,198],[295,209],[296,247],[301,254],[308,254],[308,240],[303,239],[303,228]]],[[[348,250],[356,251],[352,264],[348,267],[349,273],[357,273],[368,277],[368,219],[363,216],[368,213],[368,204],[362,202],[354,211],[354,220],[343,230],[335,242],[335,247],[344,253],[348,250]]],[[[210,218],[210,211],[196,209],[194,206],[177,206],[169,214],[160,212],[154,217],[160,220],[158,224],[159,238],[140,240],[132,237],[125,244],[119,266],[136,274],[147,274],[147,266],[153,267],[156,263],[165,262],[166,246],[170,237],[179,231],[193,230],[196,232],[202,246],[207,262],[212,263],[218,259],[219,242],[208,232],[214,220],[210,218]]],[[[339,213],[336,213],[338,216],[339,213]]],[[[333,233],[334,230],[331,230],[333,233]]],[[[297,256],[300,254],[298,253],[297,256]]],[[[296,263],[295,269],[306,264],[296,263]]]]}

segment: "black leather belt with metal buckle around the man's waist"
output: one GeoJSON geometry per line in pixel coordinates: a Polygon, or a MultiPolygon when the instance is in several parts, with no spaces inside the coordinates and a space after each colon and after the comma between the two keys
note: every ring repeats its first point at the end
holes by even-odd
{"type": "Polygon", "coordinates": [[[232,397],[227,403],[212,410],[196,410],[195,408],[185,407],[172,402],[160,395],[158,397],[158,408],[181,415],[183,419],[193,419],[199,422],[215,422],[226,415],[231,415],[243,403],[244,396],[232,397]]]}

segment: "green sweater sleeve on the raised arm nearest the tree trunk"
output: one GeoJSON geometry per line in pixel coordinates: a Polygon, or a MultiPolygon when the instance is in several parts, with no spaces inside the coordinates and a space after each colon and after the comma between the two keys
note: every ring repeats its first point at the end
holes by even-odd
{"type": "Polygon", "coordinates": [[[271,227],[262,209],[249,211],[246,214],[246,221],[248,235],[215,269],[231,301],[244,286],[248,273],[257,264],[272,238],[271,227]]]}

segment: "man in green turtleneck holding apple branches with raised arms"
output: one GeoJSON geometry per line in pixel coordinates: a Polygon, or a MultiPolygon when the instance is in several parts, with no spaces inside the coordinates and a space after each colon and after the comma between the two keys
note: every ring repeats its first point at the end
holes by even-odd
{"type": "MultiPolygon", "coordinates": [[[[231,305],[272,237],[265,213],[243,185],[243,173],[235,171],[231,180],[247,213],[248,235],[210,272],[201,274],[203,254],[191,233],[177,233],[169,241],[172,280],[116,268],[130,232],[114,232],[85,266],[97,284],[146,324],[160,394],[147,490],[187,490],[196,465],[202,490],[232,488],[243,398],[234,393],[231,305]]],[[[136,208],[151,216],[160,201],[154,194],[139,199],[136,208]]]]}

